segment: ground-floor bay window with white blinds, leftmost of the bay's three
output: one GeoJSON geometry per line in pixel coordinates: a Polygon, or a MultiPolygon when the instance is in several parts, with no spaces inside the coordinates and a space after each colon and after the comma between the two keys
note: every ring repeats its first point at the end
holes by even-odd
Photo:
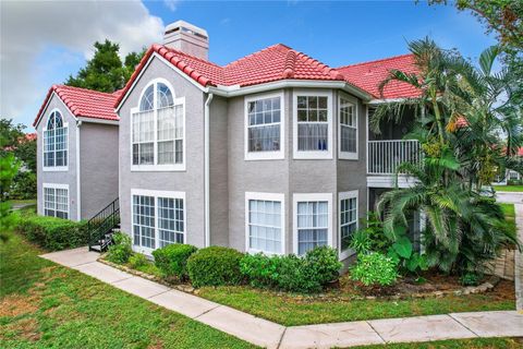
{"type": "Polygon", "coordinates": [[[281,203],[250,200],[248,249],[282,253],[281,239],[281,203]]]}

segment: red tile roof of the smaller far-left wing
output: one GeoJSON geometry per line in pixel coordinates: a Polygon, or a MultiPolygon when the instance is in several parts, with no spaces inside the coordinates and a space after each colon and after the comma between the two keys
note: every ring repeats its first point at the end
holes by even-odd
{"type": "Polygon", "coordinates": [[[112,121],[120,120],[118,115],[114,112],[114,101],[119,97],[121,89],[114,92],[113,94],[107,94],[80,87],[52,85],[47,93],[46,99],[44,100],[35,121],[33,122],[34,127],[40,119],[52,93],[56,93],[57,96],[60,97],[63,104],[68,106],[69,110],[71,110],[75,117],[112,121]]]}

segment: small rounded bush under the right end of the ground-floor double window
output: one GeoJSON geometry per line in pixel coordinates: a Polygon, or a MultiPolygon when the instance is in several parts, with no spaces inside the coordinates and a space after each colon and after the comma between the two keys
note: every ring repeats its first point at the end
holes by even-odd
{"type": "Polygon", "coordinates": [[[198,249],[191,244],[174,243],[153,252],[155,265],[166,277],[174,276],[180,280],[186,279],[187,260],[198,249]]]}

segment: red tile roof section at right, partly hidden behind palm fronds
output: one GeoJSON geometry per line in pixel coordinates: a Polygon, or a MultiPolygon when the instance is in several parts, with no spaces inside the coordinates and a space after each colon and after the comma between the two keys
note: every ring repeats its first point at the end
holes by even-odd
{"type": "Polygon", "coordinates": [[[416,73],[413,55],[396,56],[377,61],[364,62],[337,68],[345,81],[368,92],[376,98],[405,98],[415,97],[419,92],[405,83],[390,82],[381,96],[379,84],[388,76],[391,70],[400,70],[405,73],[416,73]]]}

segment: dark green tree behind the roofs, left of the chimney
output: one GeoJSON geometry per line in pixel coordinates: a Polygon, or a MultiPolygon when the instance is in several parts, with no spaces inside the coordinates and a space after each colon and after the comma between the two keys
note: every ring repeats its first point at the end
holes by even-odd
{"type": "Polygon", "coordinates": [[[70,75],[65,85],[88,88],[105,93],[113,93],[125,86],[139,60],[145,55],[130,52],[122,63],[119,51],[120,46],[106,39],[104,43],[96,41],[95,55],[87,61],[76,76],[70,75]]]}

